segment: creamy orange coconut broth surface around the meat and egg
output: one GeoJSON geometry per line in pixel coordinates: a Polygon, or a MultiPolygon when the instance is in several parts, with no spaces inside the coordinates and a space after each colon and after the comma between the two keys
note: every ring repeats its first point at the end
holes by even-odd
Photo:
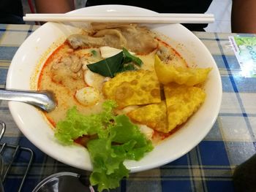
{"type": "MultiPolygon", "coordinates": [[[[161,39],[157,38],[159,42],[159,47],[166,47],[172,57],[172,64],[176,66],[184,66],[187,67],[187,63],[181,57],[181,55],[176,52],[170,45],[167,45],[166,42],[163,42],[161,39]]],[[[65,57],[69,55],[77,55],[80,59],[89,59],[89,61],[96,62],[97,60],[101,60],[102,58],[95,58],[92,53],[97,53],[100,55],[100,51],[98,47],[87,47],[83,49],[74,50],[67,42],[64,42],[60,47],[58,47],[45,62],[42,71],[39,75],[38,81],[38,90],[50,90],[53,91],[56,95],[56,99],[58,101],[58,106],[56,110],[53,112],[45,113],[46,118],[49,120],[51,125],[54,127],[59,120],[63,120],[66,116],[67,110],[71,107],[76,106],[78,111],[83,113],[84,115],[89,115],[92,113],[97,113],[102,110],[102,102],[105,101],[104,96],[102,95],[102,85],[104,83],[105,77],[102,77],[98,74],[95,74],[93,77],[94,87],[97,87],[99,90],[99,100],[97,103],[93,105],[80,104],[80,102],[75,98],[75,93],[80,88],[84,88],[89,86],[84,80],[84,74],[86,73],[86,65],[83,66],[83,70],[80,72],[80,77],[75,78],[65,78],[64,82],[56,82],[54,80],[53,75],[51,73],[52,68],[56,64],[56,62],[60,62],[65,57]],[[100,76],[100,77],[99,77],[100,76]]],[[[143,61],[143,66],[141,69],[154,71],[154,55],[157,53],[157,50],[147,54],[147,55],[136,55],[143,61]]],[[[170,61],[168,61],[170,62],[170,61]]],[[[78,75],[78,76],[79,76],[78,75]]],[[[108,77],[107,77],[108,78],[108,77]]],[[[132,107],[131,107],[132,109],[132,107]]],[[[124,109],[124,112],[127,110],[124,109]]],[[[120,111],[118,112],[120,113],[120,111]]],[[[170,134],[160,134],[157,131],[154,131],[154,135],[152,139],[154,142],[158,142],[159,140],[165,139],[170,134]]]]}

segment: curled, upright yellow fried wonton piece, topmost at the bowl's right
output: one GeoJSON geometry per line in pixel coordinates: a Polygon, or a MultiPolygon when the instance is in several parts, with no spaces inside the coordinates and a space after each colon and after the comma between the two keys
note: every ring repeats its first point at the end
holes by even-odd
{"type": "Polygon", "coordinates": [[[164,64],[159,57],[155,56],[154,68],[159,82],[167,85],[170,82],[176,82],[179,85],[193,86],[205,82],[211,68],[184,68],[181,66],[172,66],[164,64]]]}

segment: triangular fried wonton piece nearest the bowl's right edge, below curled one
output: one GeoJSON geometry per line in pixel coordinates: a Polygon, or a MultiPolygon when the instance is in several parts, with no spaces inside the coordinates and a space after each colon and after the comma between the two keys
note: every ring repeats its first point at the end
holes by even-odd
{"type": "Polygon", "coordinates": [[[171,83],[164,86],[168,131],[186,122],[206,99],[201,88],[171,83]]]}

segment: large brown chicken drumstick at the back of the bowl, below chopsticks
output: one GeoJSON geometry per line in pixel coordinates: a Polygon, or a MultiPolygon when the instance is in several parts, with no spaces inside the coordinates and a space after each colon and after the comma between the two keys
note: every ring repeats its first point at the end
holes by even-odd
{"type": "Polygon", "coordinates": [[[109,46],[128,50],[137,54],[151,53],[158,47],[154,34],[145,27],[136,25],[98,24],[92,27],[94,32],[86,35],[75,34],[67,38],[69,44],[78,47],[109,46]]]}

